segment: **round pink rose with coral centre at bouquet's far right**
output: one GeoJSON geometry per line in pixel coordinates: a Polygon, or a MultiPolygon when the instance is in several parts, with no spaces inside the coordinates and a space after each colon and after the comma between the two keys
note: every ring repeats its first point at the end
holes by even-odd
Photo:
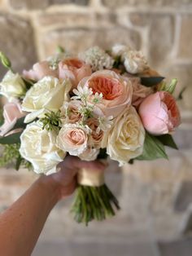
{"type": "Polygon", "coordinates": [[[164,135],[179,126],[181,117],[176,100],[167,91],[158,91],[139,107],[143,126],[153,135],[164,135]]]}

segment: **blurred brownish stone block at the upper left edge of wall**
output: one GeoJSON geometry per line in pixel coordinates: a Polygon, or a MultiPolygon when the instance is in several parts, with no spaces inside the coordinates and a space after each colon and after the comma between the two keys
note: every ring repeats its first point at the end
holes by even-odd
{"type": "MultiPolygon", "coordinates": [[[[0,49],[11,60],[13,69],[21,72],[37,61],[33,29],[27,20],[15,15],[0,14],[0,49]]],[[[5,69],[0,69],[0,77],[5,69]]]]}

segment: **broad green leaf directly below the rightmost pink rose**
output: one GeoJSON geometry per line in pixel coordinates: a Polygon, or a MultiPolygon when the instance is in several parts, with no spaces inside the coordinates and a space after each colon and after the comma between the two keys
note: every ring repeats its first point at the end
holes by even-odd
{"type": "Polygon", "coordinates": [[[137,157],[137,160],[154,160],[158,158],[168,159],[165,152],[164,144],[159,141],[155,136],[146,133],[144,148],[142,155],[137,157]]]}

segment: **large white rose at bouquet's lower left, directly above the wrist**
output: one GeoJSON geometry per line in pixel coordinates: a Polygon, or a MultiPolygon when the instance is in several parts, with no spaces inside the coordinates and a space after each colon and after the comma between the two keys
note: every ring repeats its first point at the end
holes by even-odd
{"type": "Polygon", "coordinates": [[[42,130],[40,123],[29,124],[20,136],[20,155],[33,164],[37,174],[50,174],[63,161],[65,152],[55,146],[55,131],[42,130]]]}

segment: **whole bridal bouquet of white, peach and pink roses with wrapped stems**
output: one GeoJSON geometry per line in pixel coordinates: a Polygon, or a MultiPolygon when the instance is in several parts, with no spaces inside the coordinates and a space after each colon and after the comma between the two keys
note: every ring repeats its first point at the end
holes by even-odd
{"type": "MultiPolygon", "coordinates": [[[[120,166],[168,158],[180,113],[172,93],[141,51],[98,46],[79,55],[57,54],[20,75],[0,53],[8,72],[0,83],[2,166],[15,162],[37,174],[52,174],[68,154],[84,161],[106,159],[120,166]]],[[[103,172],[80,170],[72,214],[78,223],[103,220],[120,209],[103,172]]]]}

